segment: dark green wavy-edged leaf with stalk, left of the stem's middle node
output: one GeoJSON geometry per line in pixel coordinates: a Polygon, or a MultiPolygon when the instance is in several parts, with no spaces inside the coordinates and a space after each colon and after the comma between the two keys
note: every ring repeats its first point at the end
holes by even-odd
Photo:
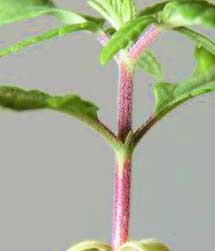
{"type": "MultiPolygon", "coordinates": [[[[0,107],[14,111],[49,109],[72,115],[99,133],[114,150],[122,147],[115,134],[98,119],[98,107],[75,94],[52,96],[39,90],[26,91],[15,86],[0,86],[0,107]]],[[[110,251],[109,246],[100,242],[82,244],[91,245],[93,250],[100,247],[99,251],[110,251]]],[[[77,248],[81,250],[83,245],[80,244],[77,248]]]]}

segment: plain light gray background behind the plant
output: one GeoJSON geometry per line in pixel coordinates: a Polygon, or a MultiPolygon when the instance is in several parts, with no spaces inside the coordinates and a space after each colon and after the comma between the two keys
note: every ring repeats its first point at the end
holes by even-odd
{"type": "MultiPolygon", "coordinates": [[[[86,1],[57,1],[64,8],[94,13],[86,1]]],[[[136,1],[138,7],[155,1],[136,1]]],[[[1,27],[1,47],[47,30],[50,17],[1,27]]],[[[212,34],[212,33],[211,33],[212,34]]],[[[186,38],[165,33],[153,44],[168,81],[183,79],[194,66],[186,38]]],[[[1,83],[74,91],[94,101],[113,129],[117,68],[98,63],[92,35],[28,48],[0,60],[1,83]]],[[[153,79],[137,71],[134,118],[139,125],[153,108],[153,79]]],[[[172,112],[145,137],[135,154],[131,238],[156,237],[172,250],[214,247],[213,95],[172,112]]],[[[65,250],[84,239],[110,242],[113,165],[103,139],[73,118],[55,112],[0,116],[0,250],[65,250]]]]}

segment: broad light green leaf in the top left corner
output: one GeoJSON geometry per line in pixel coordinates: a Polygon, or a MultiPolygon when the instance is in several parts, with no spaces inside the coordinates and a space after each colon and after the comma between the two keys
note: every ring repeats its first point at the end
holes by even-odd
{"type": "Polygon", "coordinates": [[[34,18],[53,8],[50,0],[0,0],[0,25],[34,18]]]}

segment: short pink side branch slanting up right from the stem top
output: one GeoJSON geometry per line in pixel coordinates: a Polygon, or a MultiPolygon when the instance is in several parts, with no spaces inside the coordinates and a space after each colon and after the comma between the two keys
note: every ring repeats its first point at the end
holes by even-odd
{"type": "Polygon", "coordinates": [[[135,61],[138,60],[142,52],[158,37],[159,34],[159,28],[155,25],[152,25],[129,50],[129,58],[132,58],[135,61]]]}

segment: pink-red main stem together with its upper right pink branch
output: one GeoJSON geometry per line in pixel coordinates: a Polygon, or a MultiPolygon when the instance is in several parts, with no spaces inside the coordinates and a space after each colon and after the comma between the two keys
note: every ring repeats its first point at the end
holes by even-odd
{"type": "MultiPolygon", "coordinates": [[[[114,179],[114,206],[112,249],[118,248],[129,238],[130,188],[132,173],[133,146],[127,139],[132,130],[133,78],[134,67],[143,50],[160,34],[156,26],[152,26],[129,50],[126,60],[121,59],[119,65],[119,89],[117,108],[117,138],[124,143],[116,152],[116,169],[114,179]]],[[[138,135],[137,135],[138,136],[138,135]]],[[[137,139],[138,140],[138,139],[137,139]]]]}

